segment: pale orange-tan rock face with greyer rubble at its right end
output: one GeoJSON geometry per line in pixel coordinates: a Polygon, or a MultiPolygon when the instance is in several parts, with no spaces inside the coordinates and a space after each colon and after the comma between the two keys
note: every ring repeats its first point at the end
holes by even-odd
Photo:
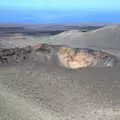
{"type": "Polygon", "coordinates": [[[57,53],[61,65],[69,69],[85,67],[112,67],[116,57],[102,51],[60,47],[57,53]]]}

